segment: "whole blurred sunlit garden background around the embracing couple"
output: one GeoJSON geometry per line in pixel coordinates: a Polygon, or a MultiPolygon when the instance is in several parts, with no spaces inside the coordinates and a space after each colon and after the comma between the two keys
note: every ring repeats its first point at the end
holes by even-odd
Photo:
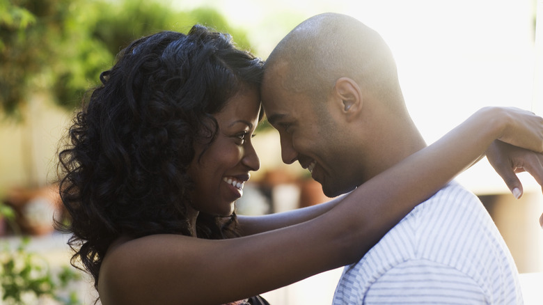
{"type": "MultiPolygon", "coordinates": [[[[85,91],[135,38],[187,32],[200,23],[232,34],[239,47],[265,59],[304,19],[352,15],[388,42],[407,107],[432,143],[481,107],[543,114],[537,38],[543,33],[536,22],[542,6],[540,0],[0,0],[0,304],[94,302],[88,279],[65,269],[68,237],[52,227],[52,215],[63,212],[55,194],[56,151],[85,91]]],[[[245,187],[240,213],[326,200],[300,166],[281,162],[272,128],[262,125],[254,142],[262,166],[245,187]]],[[[520,177],[525,194],[518,201],[485,159],[457,180],[481,198],[510,247],[526,304],[541,304],[543,198],[533,178],[520,177]]],[[[331,304],[340,272],[265,296],[272,304],[331,304]]]]}

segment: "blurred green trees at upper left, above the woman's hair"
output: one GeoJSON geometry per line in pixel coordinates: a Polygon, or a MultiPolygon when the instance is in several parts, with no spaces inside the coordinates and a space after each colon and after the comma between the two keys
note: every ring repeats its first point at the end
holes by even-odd
{"type": "Polygon", "coordinates": [[[186,33],[200,23],[249,49],[243,31],[212,8],[188,12],[159,1],[0,0],[0,111],[21,117],[32,93],[48,91],[74,109],[130,41],[161,30],[186,33]]]}

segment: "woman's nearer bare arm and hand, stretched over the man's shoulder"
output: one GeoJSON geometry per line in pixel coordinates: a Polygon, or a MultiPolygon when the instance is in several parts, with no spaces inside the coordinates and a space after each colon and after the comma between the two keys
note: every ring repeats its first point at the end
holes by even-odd
{"type": "Polygon", "coordinates": [[[354,263],[495,139],[541,152],[542,135],[539,117],[482,109],[304,223],[233,240],[152,235],[125,242],[102,263],[102,304],[223,304],[354,263]]]}

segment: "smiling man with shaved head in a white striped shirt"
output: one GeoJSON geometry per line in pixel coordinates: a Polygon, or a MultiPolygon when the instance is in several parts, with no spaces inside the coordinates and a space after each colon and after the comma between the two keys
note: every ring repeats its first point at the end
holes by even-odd
{"type": "MultiPolygon", "coordinates": [[[[404,104],[393,56],[352,17],[301,23],[270,54],[262,103],[324,194],[351,191],[426,146],[404,104]]],[[[446,162],[446,160],[443,160],[446,162]]],[[[517,268],[478,198],[450,183],[347,266],[333,304],[519,304],[517,268]]]]}

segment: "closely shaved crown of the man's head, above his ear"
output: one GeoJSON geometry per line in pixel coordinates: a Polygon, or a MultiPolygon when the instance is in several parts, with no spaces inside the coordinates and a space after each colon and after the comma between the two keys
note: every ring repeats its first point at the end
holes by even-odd
{"type": "Polygon", "coordinates": [[[366,94],[381,100],[395,100],[400,93],[395,62],[384,40],[347,15],[324,13],[299,24],[269,55],[265,70],[281,65],[287,70],[285,89],[317,100],[324,99],[340,77],[354,79],[366,94]]]}

